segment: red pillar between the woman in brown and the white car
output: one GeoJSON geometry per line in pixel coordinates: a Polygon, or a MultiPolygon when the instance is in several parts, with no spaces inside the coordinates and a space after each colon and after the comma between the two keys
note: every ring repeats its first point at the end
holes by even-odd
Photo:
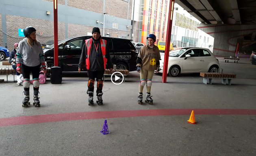
{"type": "Polygon", "coordinates": [[[174,14],[174,1],[175,0],[171,0],[169,5],[167,35],[165,40],[165,60],[164,60],[163,77],[162,77],[163,83],[166,83],[166,78],[167,78],[167,67],[168,67],[170,41],[171,41],[171,28],[172,28],[173,14],[174,14]]]}

